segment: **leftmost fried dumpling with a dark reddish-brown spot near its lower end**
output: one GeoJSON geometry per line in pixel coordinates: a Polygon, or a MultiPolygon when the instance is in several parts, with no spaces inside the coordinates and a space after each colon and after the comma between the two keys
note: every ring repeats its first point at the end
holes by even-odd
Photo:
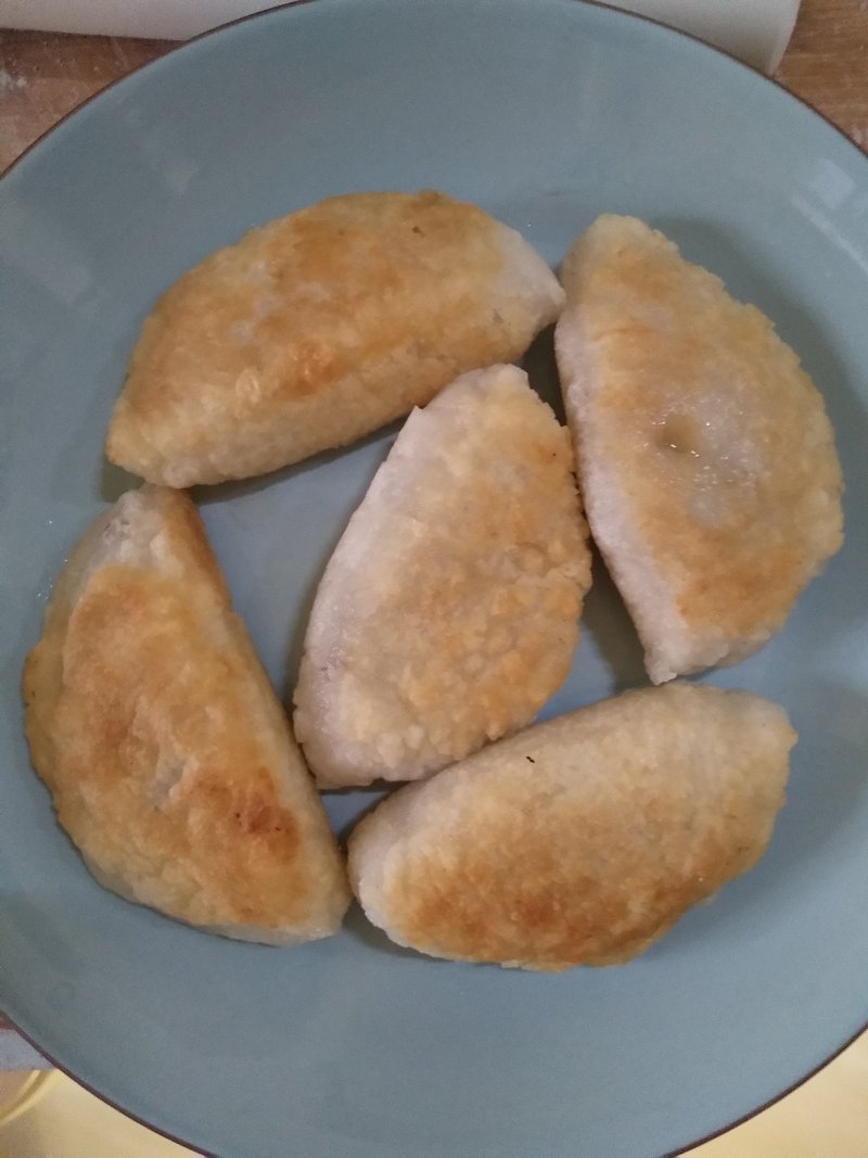
{"type": "Polygon", "coordinates": [[[250,939],[337,930],[337,845],[185,494],[131,492],[88,533],[24,697],[36,770],[102,881],[250,939]]]}

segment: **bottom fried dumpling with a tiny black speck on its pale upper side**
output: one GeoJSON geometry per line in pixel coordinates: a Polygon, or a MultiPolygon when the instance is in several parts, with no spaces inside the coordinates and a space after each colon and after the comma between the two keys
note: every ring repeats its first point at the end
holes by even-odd
{"type": "Polygon", "coordinates": [[[351,882],[434,957],[620,962],[762,856],[794,740],[746,692],[627,692],[396,792],[352,834],[351,882]]]}

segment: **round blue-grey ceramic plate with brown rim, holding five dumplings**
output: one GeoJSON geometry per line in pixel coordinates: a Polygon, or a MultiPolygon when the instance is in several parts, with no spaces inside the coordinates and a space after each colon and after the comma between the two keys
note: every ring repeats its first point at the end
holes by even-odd
{"type": "MultiPolygon", "coordinates": [[[[796,1083],[868,1018],[868,163],[687,37],[569,0],[318,0],[191,43],[88,104],[2,188],[0,1002],[64,1068],[233,1156],[660,1155],[796,1083]],[[757,302],[825,394],[848,538],[760,654],[708,676],[801,733],[763,863],[623,968],[390,948],[358,913],[278,951],[103,892],[29,768],[19,674],[51,582],[132,479],[102,440],[155,296],[330,193],[439,186],[552,263],[635,213],[757,302]]],[[[544,349],[532,358],[551,389],[544,349]]],[[[200,494],[282,688],[329,550],[393,431],[200,494]]],[[[599,580],[545,714],[641,682],[599,580]]],[[[330,801],[344,830],[366,793],[330,801]]]]}

